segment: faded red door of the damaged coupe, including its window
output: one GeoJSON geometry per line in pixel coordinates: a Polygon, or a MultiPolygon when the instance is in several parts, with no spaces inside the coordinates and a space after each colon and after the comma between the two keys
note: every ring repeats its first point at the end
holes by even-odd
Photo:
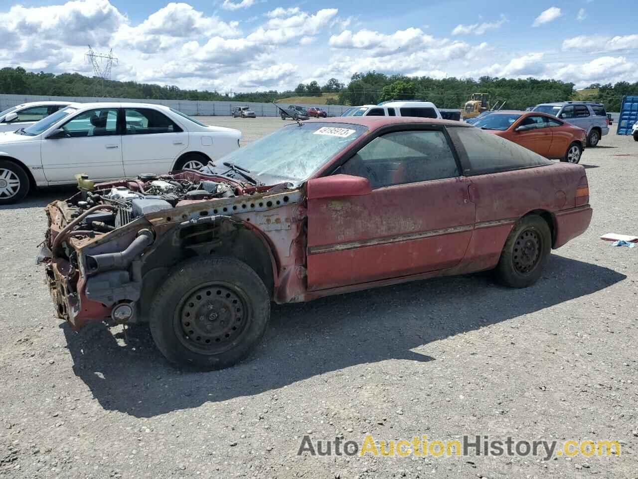
{"type": "Polygon", "coordinates": [[[470,181],[443,128],[368,142],[335,174],[367,178],[371,194],[308,200],[308,289],[445,270],[468,247],[470,181]]]}

